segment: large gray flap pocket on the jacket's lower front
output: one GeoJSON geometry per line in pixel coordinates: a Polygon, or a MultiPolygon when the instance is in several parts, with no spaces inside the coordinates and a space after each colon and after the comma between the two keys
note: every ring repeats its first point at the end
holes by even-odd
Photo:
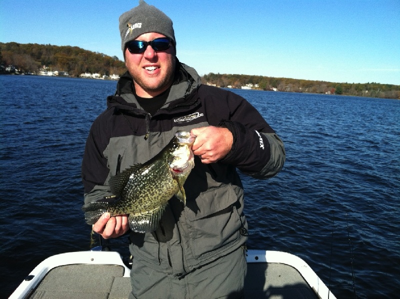
{"type": "Polygon", "coordinates": [[[242,223],[237,204],[237,195],[230,185],[213,188],[195,201],[186,202],[190,247],[196,258],[229,246],[240,237],[242,223]]]}

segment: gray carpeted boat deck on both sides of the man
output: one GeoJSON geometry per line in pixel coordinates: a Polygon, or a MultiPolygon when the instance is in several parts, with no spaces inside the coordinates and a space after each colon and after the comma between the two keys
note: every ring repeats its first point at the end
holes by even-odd
{"type": "MultiPolygon", "coordinates": [[[[63,265],[50,270],[29,298],[122,299],[131,290],[120,265],[63,265]]],[[[300,273],[281,263],[249,263],[246,298],[318,298],[300,273]]]]}

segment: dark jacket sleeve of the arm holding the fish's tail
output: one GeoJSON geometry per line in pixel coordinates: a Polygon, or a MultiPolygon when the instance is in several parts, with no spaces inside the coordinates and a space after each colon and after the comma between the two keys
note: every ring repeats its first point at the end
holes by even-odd
{"type": "Polygon", "coordinates": [[[93,122],[82,159],[82,182],[84,187],[84,203],[95,201],[112,193],[109,186],[105,184],[109,175],[107,167],[107,158],[103,152],[107,145],[107,141],[101,138],[104,134],[100,134],[100,121],[98,118],[93,122]]]}

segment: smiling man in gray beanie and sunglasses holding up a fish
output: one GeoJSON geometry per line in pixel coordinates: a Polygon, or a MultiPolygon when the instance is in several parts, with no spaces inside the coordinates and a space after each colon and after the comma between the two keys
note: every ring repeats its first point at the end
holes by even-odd
{"type": "MultiPolygon", "coordinates": [[[[282,141],[244,98],[202,85],[176,58],[172,21],[140,0],[119,17],[128,71],[90,129],[82,161],[85,203],[111,195],[108,180],[157,154],[177,130],[196,136],[184,189],[172,197],[158,228],[130,232],[130,298],[241,297],[247,223],[236,168],[255,178],[283,166],[282,141]]],[[[104,238],[129,230],[127,215],[103,214],[104,238]]]]}

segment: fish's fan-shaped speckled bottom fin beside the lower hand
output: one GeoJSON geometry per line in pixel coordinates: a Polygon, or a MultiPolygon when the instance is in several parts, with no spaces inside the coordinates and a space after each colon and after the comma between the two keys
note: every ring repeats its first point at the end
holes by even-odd
{"type": "Polygon", "coordinates": [[[158,222],[161,219],[165,206],[166,204],[141,214],[129,214],[128,222],[130,229],[136,232],[154,231],[158,227],[158,222]]]}

